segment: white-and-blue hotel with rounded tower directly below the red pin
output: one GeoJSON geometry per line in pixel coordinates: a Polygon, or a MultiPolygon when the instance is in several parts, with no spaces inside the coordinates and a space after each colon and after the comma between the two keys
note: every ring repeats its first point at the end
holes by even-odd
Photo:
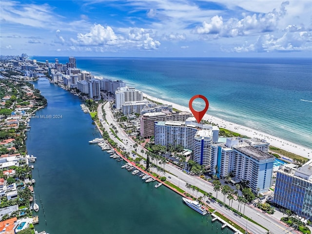
{"type": "Polygon", "coordinates": [[[206,167],[210,166],[211,144],[218,141],[218,134],[218,127],[199,124],[194,117],[186,121],[155,122],[155,144],[182,145],[193,151],[195,162],[206,167]]]}

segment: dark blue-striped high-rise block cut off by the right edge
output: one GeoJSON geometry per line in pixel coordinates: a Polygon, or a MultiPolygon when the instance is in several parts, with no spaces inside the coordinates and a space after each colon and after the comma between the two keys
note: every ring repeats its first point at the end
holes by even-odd
{"type": "Polygon", "coordinates": [[[299,168],[286,164],[277,171],[273,202],[312,219],[312,160],[299,168]]]}

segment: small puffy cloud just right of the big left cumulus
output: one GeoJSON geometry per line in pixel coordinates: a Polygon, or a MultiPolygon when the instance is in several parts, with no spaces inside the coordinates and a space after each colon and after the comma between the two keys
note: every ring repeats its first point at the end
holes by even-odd
{"type": "Polygon", "coordinates": [[[128,34],[130,42],[135,42],[137,47],[146,50],[156,49],[159,47],[160,42],[151,37],[152,30],[145,30],[143,28],[132,28],[128,34]]]}

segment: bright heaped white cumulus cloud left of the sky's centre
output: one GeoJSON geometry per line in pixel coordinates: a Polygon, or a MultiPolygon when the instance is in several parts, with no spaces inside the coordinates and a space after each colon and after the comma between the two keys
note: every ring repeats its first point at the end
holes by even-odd
{"type": "Polygon", "coordinates": [[[105,28],[100,24],[94,24],[89,33],[78,33],[77,40],[71,40],[79,45],[114,45],[117,43],[117,36],[110,26],[105,28]]]}

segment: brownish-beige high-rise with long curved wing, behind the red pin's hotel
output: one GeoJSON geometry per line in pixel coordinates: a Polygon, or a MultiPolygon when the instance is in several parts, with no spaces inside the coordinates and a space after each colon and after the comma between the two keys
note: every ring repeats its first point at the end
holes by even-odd
{"type": "MultiPolygon", "coordinates": [[[[147,108],[143,110],[146,111],[147,108]]],[[[150,108],[152,110],[157,109],[150,108]]],[[[140,116],[140,135],[144,138],[151,138],[155,135],[155,122],[158,121],[185,121],[189,117],[192,117],[192,114],[189,112],[176,112],[173,113],[170,109],[162,110],[162,112],[148,112],[140,116]]],[[[143,111],[142,110],[142,111],[143,111]]]]}

